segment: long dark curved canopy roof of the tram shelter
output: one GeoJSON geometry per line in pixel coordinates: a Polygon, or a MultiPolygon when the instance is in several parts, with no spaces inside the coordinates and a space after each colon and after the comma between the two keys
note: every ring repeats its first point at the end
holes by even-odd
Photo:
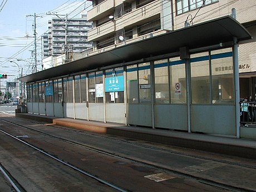
{"type": "Polygon", "coordinates": [[[194,48],[218,45],[219,43],[238,41],[252,38],[247,29],[230,16],[225,16],[211,21],[195,24],[186,28],[165,33],[163,35],[147,38],[102,52],[97,55],[48,68],[31,75],[20,77],[23,82],[36,82],[53,77],[65,76],[80,71],[89,71],[100,67],[115,65],[117,63],[131,62],[178,52],[180,47],[194,48]]]}

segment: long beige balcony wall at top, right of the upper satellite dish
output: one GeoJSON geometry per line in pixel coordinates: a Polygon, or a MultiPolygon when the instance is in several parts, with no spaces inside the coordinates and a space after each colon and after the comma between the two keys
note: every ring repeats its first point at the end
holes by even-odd
{"type": "Polygon", "coordinates": [[[156,14],[160,14],[160,11],[160,0],[151,2],[143,7],[137,8],[134,11],[124,14],[124,16],[116,19],[116,31],[127,26],[132,26],[135,23],[155,16],[156,14]]]}

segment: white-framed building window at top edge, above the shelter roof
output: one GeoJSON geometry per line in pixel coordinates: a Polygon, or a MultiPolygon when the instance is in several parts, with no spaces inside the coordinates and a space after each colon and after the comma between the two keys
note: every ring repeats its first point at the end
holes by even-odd
{"type": "Polygon", "coordinates": [[[218,0],[176,0],[176,13],[185,13],[215,2],[218,0]]]}

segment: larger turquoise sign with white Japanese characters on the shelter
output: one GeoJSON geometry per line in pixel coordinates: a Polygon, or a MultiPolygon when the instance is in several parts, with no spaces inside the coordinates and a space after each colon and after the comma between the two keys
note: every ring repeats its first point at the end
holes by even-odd
{"type": "Polygon", "coordinates": [[[105,78],[105,91],[124,91],[124,76],[105,78]]]}

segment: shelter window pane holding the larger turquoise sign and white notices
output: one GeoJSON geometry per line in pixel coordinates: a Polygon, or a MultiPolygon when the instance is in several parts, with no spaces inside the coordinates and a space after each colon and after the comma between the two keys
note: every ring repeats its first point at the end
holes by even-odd
{"type": "Polygon", "coordinates": [[[107,103],[124,103],[124,68],[106,70],[105,96],[107,103]]]}

